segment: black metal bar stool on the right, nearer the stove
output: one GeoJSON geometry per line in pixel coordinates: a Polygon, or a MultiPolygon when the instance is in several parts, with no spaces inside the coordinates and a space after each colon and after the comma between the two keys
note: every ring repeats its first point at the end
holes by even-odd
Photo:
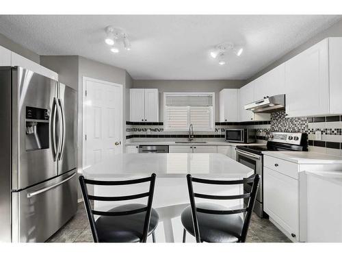
{"type": "Polygon", "coordinates": [[[186,232],[195,236],[197,243],[244,243],[257,196],[258,185],[259,175],[254,175],[243,180],[205,180],[192,178],[192,175],[188,174],[187,186],[189,189],[190,206],[185,208],[181,214],[181,221],[184,227],[183,243],[185,243],[186,232]],[[217,185],[237,185],[252,182],[252,190],[250,193],[243,195],[204,195],[194,193],[192,182],[217,185]],[[196,204],[195,197],[217,200],[249,199],[246,208],[224,210],[224,206],[220,204],[196,204]],[[244,218],[241,217],[241,213],[244,213],[244,218]]]}

